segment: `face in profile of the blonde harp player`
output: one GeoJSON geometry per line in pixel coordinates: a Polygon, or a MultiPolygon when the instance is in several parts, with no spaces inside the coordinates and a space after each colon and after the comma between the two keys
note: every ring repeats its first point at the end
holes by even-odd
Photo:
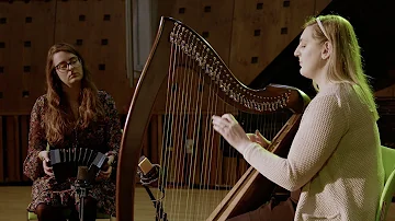
{"type": "Polygon", "coordinates": [[[317,77],[319,69],[323,67],[321,51],[323,45],[313,38],[313,27],[307,26],[303,31],[300,44],[294,53],[294,56],[298,58],[302,75],[308,79],[317,77]]]}

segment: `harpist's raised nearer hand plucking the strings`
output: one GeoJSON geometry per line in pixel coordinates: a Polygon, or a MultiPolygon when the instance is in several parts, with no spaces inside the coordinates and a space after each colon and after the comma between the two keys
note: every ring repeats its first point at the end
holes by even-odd
{"type": "Polygon", "coordinates": [[[235,117],[232,114],[224,114],[221,117],[214,115],[212,119],[214,129],[219,132],[232,147],[242,153],[240,148],[251,141],[235,117]]]}

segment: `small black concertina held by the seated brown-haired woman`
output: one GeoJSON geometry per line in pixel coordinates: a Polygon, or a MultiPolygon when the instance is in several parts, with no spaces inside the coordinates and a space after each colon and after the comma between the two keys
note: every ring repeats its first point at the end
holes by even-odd
{"type": "Polygon", "coordinates": [[[101,168],[105,170],[108,161],[105,154],[87,148],[52,149],[49,159],[58,183],[77,177],[79,166],[87,166],[88,178],[92,182],[101,168]]]}

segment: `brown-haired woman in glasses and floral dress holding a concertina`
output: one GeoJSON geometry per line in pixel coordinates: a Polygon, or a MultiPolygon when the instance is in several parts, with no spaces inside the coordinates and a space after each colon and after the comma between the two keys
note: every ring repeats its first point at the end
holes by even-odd
{"type": "Polygon", "coordinates": [[[121,125],[114,100],[98,91],[81,55],[68,44],[49,48],[45,95],[31,113],[29,152],[24,174],[33,181],[32,202],[40,221],[79,220],[76,177],[57,183],[47,146],[55,149],[89,148],[105,153],[108,170],[100,171],[84,200],[84,220],[94,221],[97,211],[115,214],[115,181],[111,178],[121,144],[121,125]]]}

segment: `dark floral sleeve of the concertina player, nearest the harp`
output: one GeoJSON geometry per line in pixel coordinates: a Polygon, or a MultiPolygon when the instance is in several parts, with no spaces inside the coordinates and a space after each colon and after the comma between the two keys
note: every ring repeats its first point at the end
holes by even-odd
{"type": "Polygon", "coordinates": [[[115,162],[117,161],[117,154],[121,147],[121,123],[119,112],[115,106],[115,101],[110,94],[105,94],[104,112],[106,115],[106,143],[109,152],[106,155],[114,155],[115,162]]]}

